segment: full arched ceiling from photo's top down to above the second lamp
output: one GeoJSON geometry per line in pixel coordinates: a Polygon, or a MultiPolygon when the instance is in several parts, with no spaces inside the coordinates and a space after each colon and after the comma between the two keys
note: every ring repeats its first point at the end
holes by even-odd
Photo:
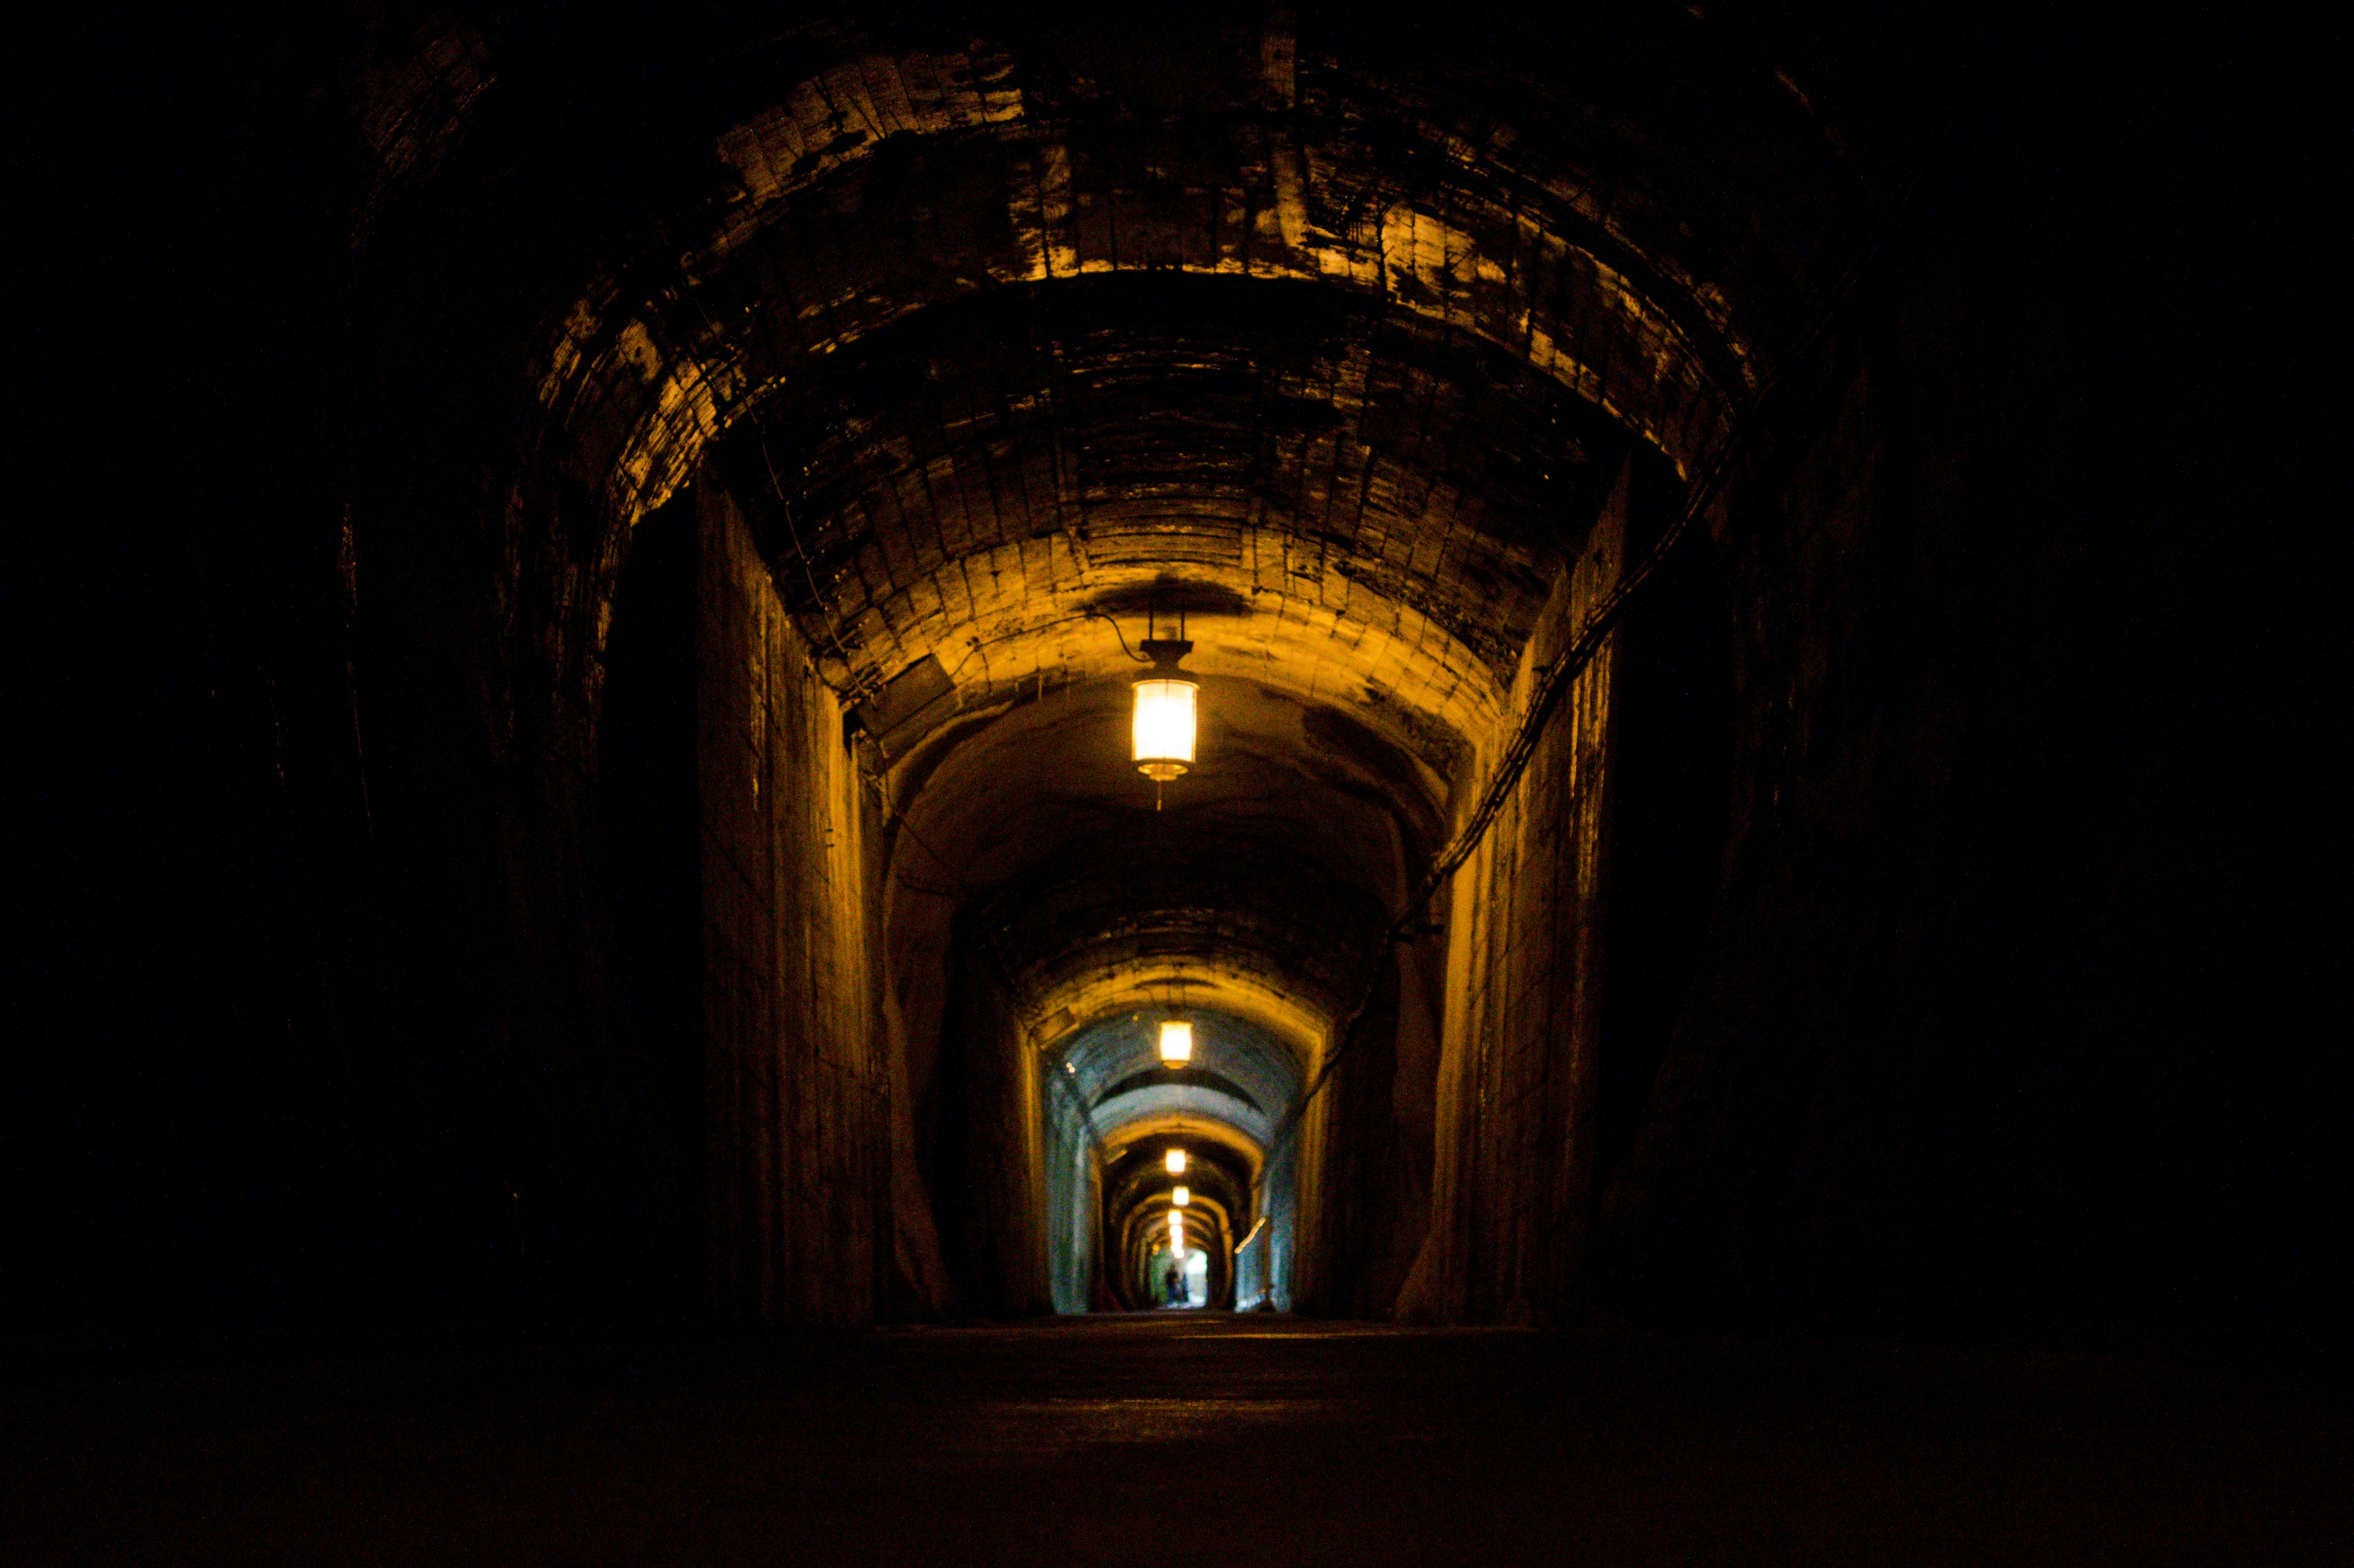
{"type": "Polygon", "coordinates": [[[1184,982],[1309,1055],[1615,476],[1709,452],[1871,205],[1787,78],[1662,26],[744,40],[548,339],[511,520],[734,499],[904,826],[902,986],[956,935],[1031,1045],[1184,982]],[[1149,610],[1205,702],[1165,812],[1149,610]]]}

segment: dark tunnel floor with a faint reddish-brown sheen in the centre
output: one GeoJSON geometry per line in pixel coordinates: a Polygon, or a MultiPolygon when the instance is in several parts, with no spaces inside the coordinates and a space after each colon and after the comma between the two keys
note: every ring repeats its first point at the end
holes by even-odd
{"type": "Polygon", "coordinates": [[[14,1563],[2321,1563],[2333,1398],[2097,1358],[1224,1314],[108,1363],[14,1563]]]}

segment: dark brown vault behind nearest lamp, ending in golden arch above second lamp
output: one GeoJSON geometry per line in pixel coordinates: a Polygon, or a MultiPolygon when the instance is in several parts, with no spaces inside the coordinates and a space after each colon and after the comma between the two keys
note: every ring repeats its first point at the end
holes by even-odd
{"type": "Polygon", "coordinates": [[[1201,763],[1156,810],[1121,680],[1066,687],[951,725],[918,758],[932,770],[899,784],[895,970],[953,932],[1038,1043],[1189,1001],[1314,1050],[1443,836],[1443,782],[1335,709],[1208,678],[1201,763]]]}

